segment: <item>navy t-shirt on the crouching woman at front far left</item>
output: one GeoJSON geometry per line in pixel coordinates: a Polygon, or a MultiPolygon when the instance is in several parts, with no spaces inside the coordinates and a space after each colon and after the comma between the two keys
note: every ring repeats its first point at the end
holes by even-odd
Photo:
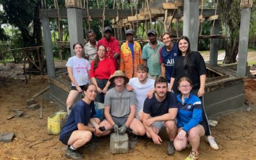
{"type": "Polygon", "coordinates": [[[77,124],[88,125],[90,118],[95,115],[94,102],[86,104],[83,100],[78,100],[72,108],[70,115],[68,116],[67,122],[63,125],[60,132],[60,140],[67,132],[78,130],[77,124]]]}

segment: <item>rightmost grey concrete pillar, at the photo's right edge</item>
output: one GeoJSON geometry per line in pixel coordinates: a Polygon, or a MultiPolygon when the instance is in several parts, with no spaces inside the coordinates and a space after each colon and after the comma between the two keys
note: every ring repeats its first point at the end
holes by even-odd
{"type": "Polygon", "coordinates": [[[238,64],[237,77],[243,77],[246,74],[247,52],[248,52],[248,36],[250,29],[251,8],[241,9],[241,23],[239,31],[239,46],[238,46],[238,64]]]}

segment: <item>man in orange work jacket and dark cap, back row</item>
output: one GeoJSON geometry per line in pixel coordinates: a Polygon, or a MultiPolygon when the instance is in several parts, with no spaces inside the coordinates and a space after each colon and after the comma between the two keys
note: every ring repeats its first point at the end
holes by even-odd
{"type": "Polygon", "coordinates": [[[129,79],[136,77],[136,68],[138,65],[143,64],[141,58],[141,46],[135,42],[134,31],[128,29],[125,31],[127,41],[120,49],[120,70],[125,73],[129,79]]]}

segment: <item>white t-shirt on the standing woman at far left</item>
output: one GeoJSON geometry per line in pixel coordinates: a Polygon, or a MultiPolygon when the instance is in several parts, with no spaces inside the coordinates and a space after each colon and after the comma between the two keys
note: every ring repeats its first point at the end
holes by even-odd
{"type": "MultiPolygon", "coordinates": [[[[90,82],[88,73],[91,66],[88,60],[78,58],[77,56],[72,56],[68,58],[66,66],[72,68],[73,76],[75,77],[76,83],[79,86],[83,86],[90,82]]],[[[75,86],[75,84],[72,83],[72,86],[75,86]]]]}

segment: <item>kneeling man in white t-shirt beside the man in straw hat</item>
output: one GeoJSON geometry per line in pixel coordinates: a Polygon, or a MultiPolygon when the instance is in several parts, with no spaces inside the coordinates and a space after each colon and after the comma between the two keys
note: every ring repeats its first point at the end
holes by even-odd
{"type": "Polygon", "coordinates": [[[136,97],[136,118],[142,120],[143,104],[148,92],[154,90],[154,79],[148,78],[147,65],[138,65],[136,68],[137,77],[133,77],[127,84],[127,89],[132,90],[136,97]]]}

